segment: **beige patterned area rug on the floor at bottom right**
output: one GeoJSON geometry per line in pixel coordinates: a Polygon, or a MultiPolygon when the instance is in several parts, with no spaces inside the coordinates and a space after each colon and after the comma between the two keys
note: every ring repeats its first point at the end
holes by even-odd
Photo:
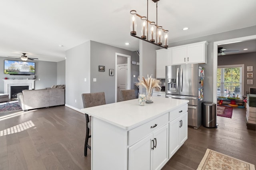
{"type": "Polygon", "coordinates": [[[207,149],[197,170],[255,170],[254,164],[207,149]]]}

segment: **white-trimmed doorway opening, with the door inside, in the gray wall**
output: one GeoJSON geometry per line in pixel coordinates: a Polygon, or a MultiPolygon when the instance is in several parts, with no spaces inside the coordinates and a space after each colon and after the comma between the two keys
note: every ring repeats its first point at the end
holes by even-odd
{"type": "Polygon", "coordinates": [[[115,102],[120,101],[120,91],[131,89],[131,56],[116,53],[115,102]]]}

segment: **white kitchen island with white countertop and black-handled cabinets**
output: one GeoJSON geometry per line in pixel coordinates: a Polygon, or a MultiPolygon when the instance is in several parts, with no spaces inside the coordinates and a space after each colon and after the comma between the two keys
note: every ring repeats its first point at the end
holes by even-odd
{"type": "Polygon", "coordinates": [[[188,136],[188,101],[154,97],[81,109],[92,116],[92,170],[161,169],[188,136]]]}

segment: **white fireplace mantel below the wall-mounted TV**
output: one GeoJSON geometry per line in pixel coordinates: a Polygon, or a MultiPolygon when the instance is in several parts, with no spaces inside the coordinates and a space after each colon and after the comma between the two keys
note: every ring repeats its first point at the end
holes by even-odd
{"type": "Polygon", "coordinates": [[[9,94],[11,97],[11,86],[28,86],[28,89],[34,89],[35,79],[3,79],[4,81],[4,93],[9,94]]]}

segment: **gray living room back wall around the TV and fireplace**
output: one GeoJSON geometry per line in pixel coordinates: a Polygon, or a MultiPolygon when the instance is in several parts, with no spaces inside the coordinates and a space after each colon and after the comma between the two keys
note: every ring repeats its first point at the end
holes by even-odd
{"type": "MultiPolygon", "coordinates": [[[[8,77],[8,79],[33,79],[33,75],[5,75],[4,74],[4,60],[16,60],[21,61],[20,59],[14,59],[10,57],[0,57],[0,93],[4,93],[4,77],[8,77]]],[[[35,89],[43,89],[46,87],[51,87],[52,85],[56,85],[57,83],[57,63],[50,61],[38,61],[35,62],[35,89]],[[38,80],[40,79],[40,81],[38,80]]]]}

